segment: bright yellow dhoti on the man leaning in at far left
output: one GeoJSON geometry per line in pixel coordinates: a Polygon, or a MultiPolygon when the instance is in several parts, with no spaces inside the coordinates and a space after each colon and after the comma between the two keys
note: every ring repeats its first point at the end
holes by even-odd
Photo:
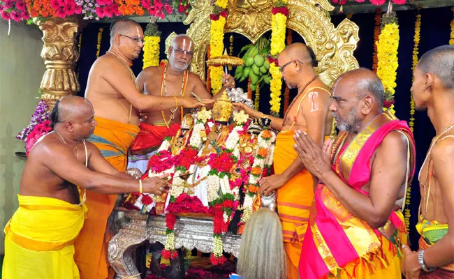
{"type": "Polygon", "coordinates": [[[50,197],[17,195],[19,209],[5,227],[3,278],[80,278],[74,240],[85,210],[50,197]]]}

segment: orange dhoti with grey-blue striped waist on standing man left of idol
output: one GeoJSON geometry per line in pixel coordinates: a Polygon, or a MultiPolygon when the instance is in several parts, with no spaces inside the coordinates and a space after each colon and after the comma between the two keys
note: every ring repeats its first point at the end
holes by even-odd
{"type": "MultiPolygon", "coordinates": [[[[129,125],[95,117],[98,122],[89,141],[95,144],[108,162],[120,172],[126,170],[129,146],[139,132],[136,125],[129,125]]],[[[87,220],[76,239],[75,262],[81,279],[113,278],[114,271],[108,263],[108,218],[114,209],[117,195],[103,195],[87,190],[87,220]]]]}

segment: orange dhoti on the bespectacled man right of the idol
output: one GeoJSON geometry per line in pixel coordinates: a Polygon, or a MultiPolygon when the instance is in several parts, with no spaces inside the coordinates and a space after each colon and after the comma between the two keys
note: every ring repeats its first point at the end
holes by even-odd
{"type": "MultiPolygon", "coordinates": [[[[281,174],[298,158],[293,148],[294,131],[277,134],[274,173],[281,174]]],[[[303,169],[277,190],[277,211],[281,219],[287,256],[287,278],[298,278],[298,263],[309,211],[314,199],[312,175],[303,169]]]]}

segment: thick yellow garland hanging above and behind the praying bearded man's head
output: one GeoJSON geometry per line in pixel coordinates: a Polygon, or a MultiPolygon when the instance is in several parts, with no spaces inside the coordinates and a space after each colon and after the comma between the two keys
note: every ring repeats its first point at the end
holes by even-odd
{"type": "Polygon", "coordinates": [[[396,86],[397,47],[399,47],[399,25],[394,12],[383,15],[383,29],[381,30],[377,45],[377,58],[379,59],[376,75],[379,76],[385,89],[385,102],[383,110],[394,111],[394,93],[396,86]]]}

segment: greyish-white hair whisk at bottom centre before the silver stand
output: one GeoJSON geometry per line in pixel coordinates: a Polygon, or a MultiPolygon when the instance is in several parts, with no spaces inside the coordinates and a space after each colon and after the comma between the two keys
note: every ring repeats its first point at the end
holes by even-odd
{"type": "Polygon", "coordinates": [[[244,279],[286,279],[281,221],[270,209],[259,209],[246,223],[237,273],[244,279]]]}

